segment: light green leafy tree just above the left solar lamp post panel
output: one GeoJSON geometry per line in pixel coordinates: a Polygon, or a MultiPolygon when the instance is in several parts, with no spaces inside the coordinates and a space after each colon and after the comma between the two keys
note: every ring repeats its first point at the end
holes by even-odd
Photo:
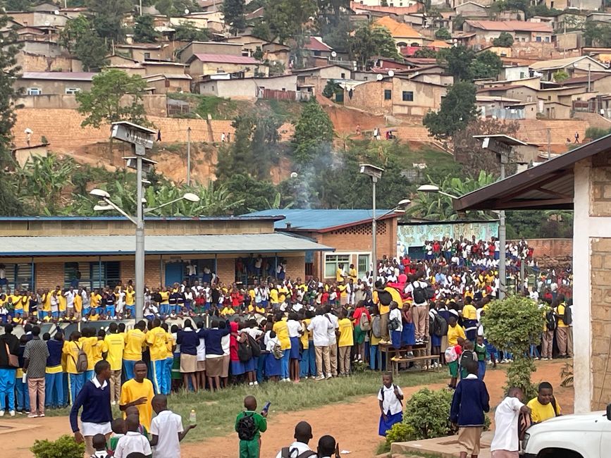
{"type": "Polygon", "coordinates": [[[76,94],[78,112],[85,115],[82,127],[99,128],[121,120],[147,125],[142,104],[146,87],[147,82],[140,75],[128,75],[115,68],[95,75],[91,90],[76,94]]]}

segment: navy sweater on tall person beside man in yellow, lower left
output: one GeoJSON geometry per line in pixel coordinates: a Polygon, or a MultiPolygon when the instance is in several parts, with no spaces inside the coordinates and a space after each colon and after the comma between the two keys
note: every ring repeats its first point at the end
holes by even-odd
{"type": "Polygon", "coordinates": [[[70,410],[70,427],[72,432],[78,431],[78,411],[82,407],[80,421],[85,423],[106,423],[113,421],[111,410],[111,385],[97,388],[91,380],[87,380],[78,393],[70,410]]]}

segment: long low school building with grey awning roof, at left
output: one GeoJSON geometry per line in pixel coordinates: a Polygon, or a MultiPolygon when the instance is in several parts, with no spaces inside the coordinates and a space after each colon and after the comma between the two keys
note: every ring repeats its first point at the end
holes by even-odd
{"type": "MultiPolygon", "coordinates": [[[[261,274],[285,266],[285,275],[306,278],[307,259],[333,248],[277,233],[273,216],[146,218],[144,280],[148,287],[187,278],[187,266],[230,284],[252,281],[253,259],[261,274]],[[249,278],[249,276],[251,278],[249,278]]],[[[0,218],[0,285],[18,289],[87,287],[134,280],[135,226],[122,217],[0,218]]]]}

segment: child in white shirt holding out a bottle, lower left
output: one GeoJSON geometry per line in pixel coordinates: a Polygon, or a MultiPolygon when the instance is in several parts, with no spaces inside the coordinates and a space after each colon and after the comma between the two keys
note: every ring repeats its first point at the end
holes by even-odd
{"type": "Polygon", "coordinates": [[[155,458],[180,458],[180,441],[195,428],[195,424],[183,428],[180,415],[168,410],[166,395],[155,395],[151,403],[157,415],[149,431],[153,436],[151,445],[155,447],[155,458]]]}

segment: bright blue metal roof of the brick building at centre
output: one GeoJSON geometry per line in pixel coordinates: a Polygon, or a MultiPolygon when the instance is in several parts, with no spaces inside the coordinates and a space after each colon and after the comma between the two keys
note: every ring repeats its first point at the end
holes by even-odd
{"type": "MultiPolygon", "coordinates": [[[[385,213],[392,210],[376,209],[376,218],[380,218],[385,213]]],[[[291,230],[314,230],[324,231],[331,228],[338,228],[345,225],[366,223],[371,221],[373,213],[367,209],[356,210],[312,210],[312,209],[275,209],[262,210],[248,213],[243,216],[284,216],[285,219],[273,223],[273,228],[285,230],[287,223],[291,230]]]]}

